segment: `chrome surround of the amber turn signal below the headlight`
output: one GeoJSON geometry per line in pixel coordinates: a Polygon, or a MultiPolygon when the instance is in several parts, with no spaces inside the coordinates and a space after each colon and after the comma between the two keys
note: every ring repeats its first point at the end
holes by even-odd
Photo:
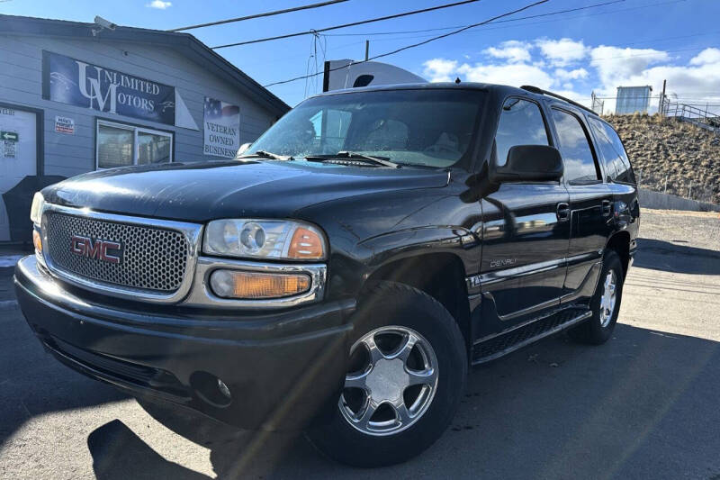
{"type": "Polygon", "coordinates": [[[328,267],[325,264],[282,264],[229,258],[200,257],[197,259],[196,274],[190,295],[184,300],[187,306],[211,306],[219,308],[282,308],[300,303],[321,300],[325,293],[325,279],[328,267]],[[220,298],[212,293],[210,276],[214,270],[243,270],[263,273],[303,273],[311,277],[310,290],[304,294],[266,300],[238,300],[220,298]]]}

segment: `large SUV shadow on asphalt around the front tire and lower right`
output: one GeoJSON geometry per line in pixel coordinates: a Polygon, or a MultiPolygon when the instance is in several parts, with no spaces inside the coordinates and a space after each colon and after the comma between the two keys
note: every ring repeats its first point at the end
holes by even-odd
{"type": "Polygon", "coordinates": [[[561,335],[474,368],[445,435],[410,462],[378,470],[329,462],[297,435],[143,407],[210,448],[220,478],[709,478],[720,474],[719,395],[720,344],[618,324],[604,346],[561,335]]]}

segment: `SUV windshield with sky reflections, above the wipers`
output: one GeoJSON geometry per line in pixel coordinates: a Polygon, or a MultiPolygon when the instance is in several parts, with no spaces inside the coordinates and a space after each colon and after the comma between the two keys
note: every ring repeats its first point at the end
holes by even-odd
{"type": "Polygon", "coordinates": [[[423,89],[311,98],[276,122],[243,156],[266,151],[304,158],[352,151],[400,165],[449,167],[473,144],[482,95],[423,89]]]}

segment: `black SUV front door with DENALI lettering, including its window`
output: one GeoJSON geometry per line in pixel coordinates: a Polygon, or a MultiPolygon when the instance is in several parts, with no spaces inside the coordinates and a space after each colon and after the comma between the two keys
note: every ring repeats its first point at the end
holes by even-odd
{"type": "MultiPolygon", "coordinates": [[[[491,161],[515,145],[553,145],[545,114],[530,98],[505,100],[491,161]]],[[[570,197],[559,182],[503,183],[482,198],[484,329],[504,330],[557,307],[570,239],[570,197]]]]}

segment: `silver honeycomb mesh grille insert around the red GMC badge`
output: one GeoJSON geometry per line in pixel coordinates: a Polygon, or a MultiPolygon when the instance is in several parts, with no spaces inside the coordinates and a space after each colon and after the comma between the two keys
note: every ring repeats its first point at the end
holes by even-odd
{"type": "Polygon", "coordinates": [[[61,273],[162,293],[175,292],[183,283],[189,246],[180,231],[54,212],[46,213],[43,227],[50,267],[61,273]],[[73,253],[70,243],[76,235],[120,243],[120,262],[73,253]]]}

